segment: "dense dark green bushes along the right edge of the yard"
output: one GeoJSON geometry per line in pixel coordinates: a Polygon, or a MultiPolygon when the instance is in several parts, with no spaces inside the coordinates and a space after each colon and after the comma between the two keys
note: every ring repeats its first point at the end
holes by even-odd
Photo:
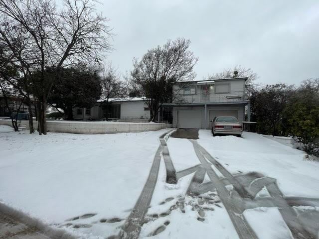
{"type": "Polygon", "coordinates": [[[252,119],[257,132],[292,136],[301,149],[319,156],[319,79],[299,88],[277,84],[252,93],[252,119]]]}

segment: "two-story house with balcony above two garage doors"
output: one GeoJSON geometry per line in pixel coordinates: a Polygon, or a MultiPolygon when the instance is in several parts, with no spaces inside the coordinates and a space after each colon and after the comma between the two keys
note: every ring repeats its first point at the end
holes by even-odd
{"type": "Polygon", "coordinates": [[[208,81],[178,82],[173,86],[172,124],[177,128],[211,128],[215,116],[245,119],[245,95],[248,77],[208,81]]]}

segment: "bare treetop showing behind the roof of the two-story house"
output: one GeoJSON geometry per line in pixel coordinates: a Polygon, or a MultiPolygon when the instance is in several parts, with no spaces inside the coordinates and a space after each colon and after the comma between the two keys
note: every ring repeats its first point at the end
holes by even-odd
{"type": "Polygon", "coordinates": [[[209,75],[207,79],[213,80],[213,79],[225,79],[225,78],[232,78],[232,77],[248,77],[248,80],[246,81],[246,91],[249,95],[255,88],[254,81],[259,78],[257,73],[254,72],[251,68],[245,68],[241,65],[237,65],[233,68],[225,68],[222,72],[209,75]]]}

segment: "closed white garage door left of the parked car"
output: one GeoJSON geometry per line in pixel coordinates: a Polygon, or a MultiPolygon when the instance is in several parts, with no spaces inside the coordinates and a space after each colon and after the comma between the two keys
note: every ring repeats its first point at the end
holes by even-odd
{"type": "Polygon", "coordinates": [[[184,110],[177,112],[178,128],[200,128],[201,111],[200,110],[184,110]]]}

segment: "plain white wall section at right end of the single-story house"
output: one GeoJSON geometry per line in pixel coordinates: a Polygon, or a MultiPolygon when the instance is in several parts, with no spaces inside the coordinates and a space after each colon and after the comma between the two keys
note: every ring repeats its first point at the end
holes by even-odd
{"type": "Polygon", "coordinates": [[[150,111],[143,101],[121,102],[121,119],[150,119],[150,111]]]}

